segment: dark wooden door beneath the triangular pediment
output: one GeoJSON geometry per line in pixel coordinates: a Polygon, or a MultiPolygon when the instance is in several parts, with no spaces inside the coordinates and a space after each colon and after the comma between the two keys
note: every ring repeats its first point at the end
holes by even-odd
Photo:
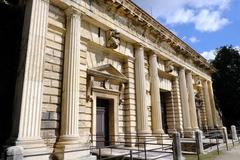
{"type": "Polygon", "coordinates": [[[97,147],[109,144],[108,101],[97,100],[97,147]]]}

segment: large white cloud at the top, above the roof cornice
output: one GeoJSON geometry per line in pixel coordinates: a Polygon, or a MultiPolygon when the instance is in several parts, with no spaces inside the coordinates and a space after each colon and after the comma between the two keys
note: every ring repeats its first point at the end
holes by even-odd
{"type": "Polygon", "coordinates": [[[167,24],[194,24],[201,32],[214,32],[229,23],[222,13],[232,0],[134,0],[167,24]]]}

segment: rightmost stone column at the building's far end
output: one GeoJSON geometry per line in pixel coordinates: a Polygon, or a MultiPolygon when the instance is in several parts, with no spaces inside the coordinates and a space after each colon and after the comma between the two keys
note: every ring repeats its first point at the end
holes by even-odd
{"type": "Polygon", "coordinates": [[[208,89],[209,89],[209,95],[210,95],[209,98],[210,98],[211,108],[212,108],[213,124],[215,127],[218,127],[217,110],[216,110],[215,100],[213,95],[212,82],[208,82],[208,89]]]}

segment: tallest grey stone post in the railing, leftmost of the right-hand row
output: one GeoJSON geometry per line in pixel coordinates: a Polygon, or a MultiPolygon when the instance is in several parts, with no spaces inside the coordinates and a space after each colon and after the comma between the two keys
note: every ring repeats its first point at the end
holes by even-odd
{"type": "Polygon", "coordinates": [[[182,160],[182,149],[180,142],[180,134],[173,133],[173,160],[182,160]]]}

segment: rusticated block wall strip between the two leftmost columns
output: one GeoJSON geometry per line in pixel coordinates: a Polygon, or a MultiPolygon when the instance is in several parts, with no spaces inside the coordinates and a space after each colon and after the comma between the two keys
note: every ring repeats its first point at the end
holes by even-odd
{"type": "Polygon", "coordinates": [[[43,73],[41,136],[52,147],[60,133],[65,14],[50,5],[43,73]]]}

